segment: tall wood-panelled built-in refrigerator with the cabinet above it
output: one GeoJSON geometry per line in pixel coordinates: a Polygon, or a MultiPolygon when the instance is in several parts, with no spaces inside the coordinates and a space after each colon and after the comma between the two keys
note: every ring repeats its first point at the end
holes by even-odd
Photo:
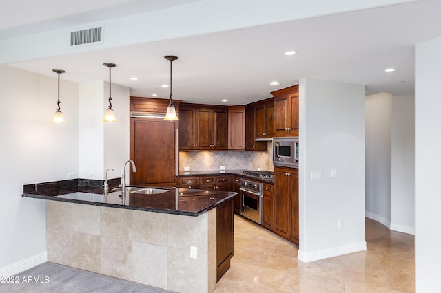
{"type": "MultiPolygon", "coordinates": [[[[176,186],[178,184],[177,135],[178,123],[153,117],[164,113],[167,102],[153,98],[130,98],[130,159],[137,172],[130,171],[130,184],[176,186]],[[156,108],[155,108],[156,107],[156,108]],[[150,112],[141,112],[141,110],[150,112]]],[[[178,103],[176,103],[178,104],[178,103]]],[[[178,105],[175,105],[178,107],[178,105]]]]}

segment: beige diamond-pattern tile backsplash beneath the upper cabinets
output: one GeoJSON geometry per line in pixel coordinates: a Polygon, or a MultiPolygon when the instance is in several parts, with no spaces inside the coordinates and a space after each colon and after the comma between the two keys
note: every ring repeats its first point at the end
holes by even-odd
{"type": "Polygon", "coordinates": [[[179,172],[184,172],[185,167],[190,167],[190,171],[216,171],[220,166],[227,170],[273,171],[271,146],[269,143],[268,151],[181,151],[179,172]]]}

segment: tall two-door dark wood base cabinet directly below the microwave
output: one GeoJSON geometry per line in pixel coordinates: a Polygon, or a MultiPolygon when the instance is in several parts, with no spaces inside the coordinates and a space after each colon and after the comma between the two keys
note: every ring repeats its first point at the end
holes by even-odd
{"type": "Polygon", "coordinates": [[[298,169],[274,167],[273,232],[298,245],[298,169]]]}

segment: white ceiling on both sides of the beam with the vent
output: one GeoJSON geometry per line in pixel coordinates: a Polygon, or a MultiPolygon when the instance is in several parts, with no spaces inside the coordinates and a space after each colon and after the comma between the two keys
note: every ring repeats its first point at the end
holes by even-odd
{"type": "MultiPolygon", "coordinates": [[[[15,0],[0,11],[0,39],[194,2],[15,0]],[[23,6],[32,7],[24,11],[23,6]]],[[[108,80],[101,64],[112,62],[118,65],[112,83],[130,87],[132,96],[167,98],[169,89],[159,87],[170,78],[163,56],[175,54],[174,98],[210,104],[223,98],[227,105],[269,98],[270,91],[303,77],[362,84],[372,93],[411,94],[413,45],[441,36],[440,11],[441,1],[417,1],[10,65],[49,76],[56,76],[52,69],[64,69],[62,79],[82,82],[108,80]],[[285,50],[297,54],[285,56],[285,50]],[[384,72],[388,67],[397,70],[384,72]],[[281,84],[271,86],[272,80],[281,84]]]]}

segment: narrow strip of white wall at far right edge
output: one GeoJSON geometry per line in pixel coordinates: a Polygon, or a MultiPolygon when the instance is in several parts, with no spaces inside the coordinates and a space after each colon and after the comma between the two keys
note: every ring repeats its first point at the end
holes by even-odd
{"type": "Polygon", "coordinates": [[[415,281],[416,292],[440,292],[441,38],[416,45],[415,281]]]}

